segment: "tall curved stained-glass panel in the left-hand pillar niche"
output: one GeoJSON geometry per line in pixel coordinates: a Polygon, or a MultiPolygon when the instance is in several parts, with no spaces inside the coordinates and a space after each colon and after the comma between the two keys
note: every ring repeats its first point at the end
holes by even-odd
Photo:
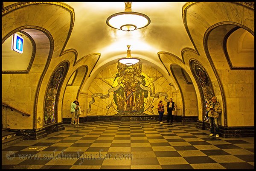
{"type": "Polygon", "coordinates": [[[49,78],[43,105],[43,126],[51,123],[58,123],[58,98],[62,84],[67,76],[70,63],[68,60],[62,61],[53,70],[49,78]],[[49,121],[50,120],[50,121],[49,121]]]}

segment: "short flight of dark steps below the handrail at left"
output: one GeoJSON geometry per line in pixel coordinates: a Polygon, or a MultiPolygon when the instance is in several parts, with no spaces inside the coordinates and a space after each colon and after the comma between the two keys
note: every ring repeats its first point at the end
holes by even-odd
{"type": "Polygon", "coordinates": [[[16,132],[9,132],[9,128],[2,128],[2,149],[22,140],[23,136],[16,136],[16,132]]]}

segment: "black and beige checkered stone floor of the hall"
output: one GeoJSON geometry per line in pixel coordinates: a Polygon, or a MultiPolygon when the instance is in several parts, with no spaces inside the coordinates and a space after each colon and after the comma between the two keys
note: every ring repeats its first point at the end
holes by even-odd
{"type": "Polygon", "coordinates": [[[86,122],[2,149],[11,168],[254,169],[254,137],[209,137],[195,123],[86,122]]]}

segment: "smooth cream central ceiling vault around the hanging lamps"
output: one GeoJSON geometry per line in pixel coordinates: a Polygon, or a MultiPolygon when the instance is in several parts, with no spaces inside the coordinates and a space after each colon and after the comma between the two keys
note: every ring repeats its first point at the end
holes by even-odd
{"type": "Polygon", "coordinates": [[[106,24],[110,15],[124,11],[124,2],[65,3],[75,11],[74,28],[65,49],[76,49],[78,59],[90,53],[102,54],[92,77],[108,62],[117,62],[125,57],[126,45],[131,45],[132,56],[160,68],[163,65],[157,52],[168,51],[181,58],[183,48],[193,48],[182,20],[182,6],[186,2],[133,2],[132,11],[146,14],[151,23],[130,32],[116,30],[106,24]]]}

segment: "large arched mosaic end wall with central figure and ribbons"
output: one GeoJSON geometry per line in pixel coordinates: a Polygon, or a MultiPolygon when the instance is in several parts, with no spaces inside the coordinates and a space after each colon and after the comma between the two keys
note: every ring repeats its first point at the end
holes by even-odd
{"type": "Polygon", "coordinates": [[[87,115],[157,115],[158,102],[169,101],[171,88],[157,70],[143,66],[118,62],[99,73],[88,88],[87,115]]]}

